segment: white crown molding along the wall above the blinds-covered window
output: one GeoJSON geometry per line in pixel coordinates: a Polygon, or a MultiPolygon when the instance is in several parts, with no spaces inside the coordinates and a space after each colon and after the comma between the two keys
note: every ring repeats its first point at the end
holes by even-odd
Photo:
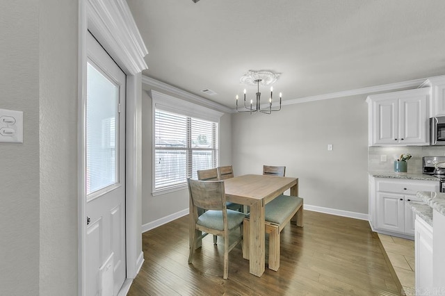
{"type": "Polygon", "coordinates": [[[186,92],[185,90],[181,90],[180,88],[175,88],[175,86],[163,83],[156,79],[152,79],[148,76],[142,76],[142,83],[153,86],[155,88],[159,88],[161,90],[165,90],[177,95],[178,97],[184,98],[187,101],[191,101],[192,103],[199,104],[213,110],[218,110],[223,113],[234,113],[234,111],[229,107],[215,103],[214,101],[210,101],[209,99],[204,99],[203,97],[197,96],[196,94],[191,94],[190,92],[186,92]]]}

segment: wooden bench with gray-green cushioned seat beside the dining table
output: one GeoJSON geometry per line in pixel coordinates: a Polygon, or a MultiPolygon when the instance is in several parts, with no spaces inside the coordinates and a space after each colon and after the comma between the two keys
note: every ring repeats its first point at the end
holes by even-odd
{"type": "MultiPolygon", "coordinates": [[[[265,206],[265,229],[269,234],[268,268],[277,271],[280,268],[280,233],[290,222],[303,226],[303,199],[289,195],[280,195],[265,206]]],[[[249,260],[249,218],[243,220],[243,258],[249,260]]]]}

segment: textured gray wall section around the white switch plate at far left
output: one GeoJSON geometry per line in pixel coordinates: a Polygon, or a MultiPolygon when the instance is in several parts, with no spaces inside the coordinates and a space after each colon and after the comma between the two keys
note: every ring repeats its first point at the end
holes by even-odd
{"type": "Polygon", "coordinates": [[[0,108],[24,112],[23,144],[0,143],[0,294],[39,290],[39,1],[0,1],[0,108]]]}

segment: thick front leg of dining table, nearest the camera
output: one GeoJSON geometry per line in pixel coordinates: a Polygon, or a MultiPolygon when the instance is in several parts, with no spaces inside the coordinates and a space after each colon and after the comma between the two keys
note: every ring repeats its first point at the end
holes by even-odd
{"type": "Polygon", "coordinates": [[[260,201],[250,206],[249,222],[250,243],[250,273],[261,277],[264,273],[265,261],[265,230],[264,230],[264,202],[260,201]]]}

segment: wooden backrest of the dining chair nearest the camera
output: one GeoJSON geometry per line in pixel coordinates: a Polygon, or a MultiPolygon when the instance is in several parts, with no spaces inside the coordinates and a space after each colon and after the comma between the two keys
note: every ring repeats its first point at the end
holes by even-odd
{"type": "Polygon", "coordinates": [[[187,179],[188,192],[195,208],[226,211],[224,181],[200,181],[187,179]]]}

